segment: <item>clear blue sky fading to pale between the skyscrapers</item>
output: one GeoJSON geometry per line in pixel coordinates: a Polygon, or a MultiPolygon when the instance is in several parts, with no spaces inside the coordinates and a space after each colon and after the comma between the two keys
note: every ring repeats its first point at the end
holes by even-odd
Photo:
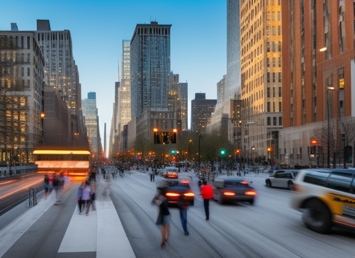
{"type": "Polygon", "coordinates": [[[226,74],[226,0],[0,0],[0,13],[0,30],[17,23],[20,31],[34,31],[37,19],[49,20],[53,31],[70,30],[82,99],[96,92],[106,150],[122,40],[132,38],[137,24],[172,25],[170,69],[188,82],[189,127],[195,93],[216,99],[216,85],[226,74]]]}

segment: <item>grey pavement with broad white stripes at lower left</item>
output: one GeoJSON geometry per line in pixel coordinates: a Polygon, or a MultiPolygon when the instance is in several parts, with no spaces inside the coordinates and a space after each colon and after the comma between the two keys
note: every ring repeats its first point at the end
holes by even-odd
{"type": "Polygon", "coordinates": [[[104,184],[97,181],[96,210],[90,207],[89,216],[79,215],[76,183],[60,205],[54,205],[54,192],[42,199],[0,231],[0,257],[135,258],[111,199],[102,195],[104,184]]]}

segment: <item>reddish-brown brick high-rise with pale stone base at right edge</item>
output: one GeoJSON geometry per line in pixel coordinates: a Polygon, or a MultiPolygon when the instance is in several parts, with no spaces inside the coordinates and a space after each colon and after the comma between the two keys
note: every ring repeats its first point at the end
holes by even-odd
{"type": "Polygon", "coordinates": [[[282,2],[282,162],[353,163],[344,148],[355,137],[353,10],[353,1],[282,2]]]}

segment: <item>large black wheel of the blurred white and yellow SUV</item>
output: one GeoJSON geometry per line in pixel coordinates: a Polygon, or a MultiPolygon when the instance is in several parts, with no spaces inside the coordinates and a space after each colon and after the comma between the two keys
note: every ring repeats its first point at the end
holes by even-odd
{"type": "Polygon", "coordinates": [[[332,227],[332,216],[328,207],[320,200],[313,199],[308,201],[304,207],[302,221],[305,225],[318,233],[328,233],[332,227]]]}

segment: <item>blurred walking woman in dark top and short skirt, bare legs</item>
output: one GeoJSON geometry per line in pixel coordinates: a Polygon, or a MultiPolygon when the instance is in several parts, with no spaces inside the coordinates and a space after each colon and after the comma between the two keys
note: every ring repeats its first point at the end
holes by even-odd
{"type": "Polygon", "coordinates": [[[159,207],[158,219],[155,224],[160,225],[160,233],[161,233],[161,244],[163,247],[165,245],[165,241],[168,239],[170,235],[170,219],[171,215],[168,209],[167,200],[164,196],[165,190],[162,189],[159,192],[159,195],[153,199],[153,202],[159,207]]]}

